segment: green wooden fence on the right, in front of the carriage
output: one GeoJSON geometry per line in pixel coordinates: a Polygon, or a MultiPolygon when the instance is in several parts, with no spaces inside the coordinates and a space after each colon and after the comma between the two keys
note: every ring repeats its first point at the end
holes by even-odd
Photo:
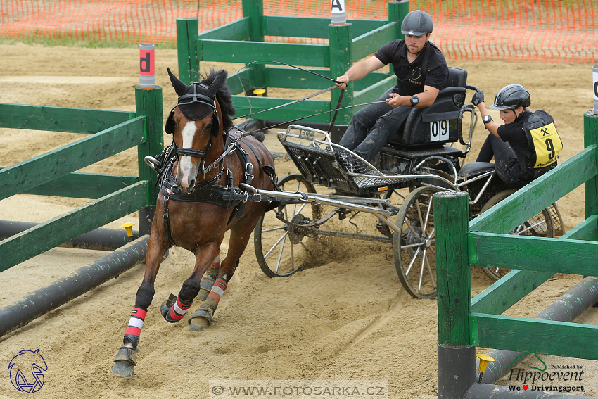
{"type": "Polygon", "coordinates": [[[598,360],[598,326],[502,316],[556,273],[597,275],[598,115],[585,113],[584,128],[583,151],[471,222],[467,194],[435,194],[439,346],[598,360]],[[507,234],[581,184],[586,220],[564,236],[507,234]],[[472,299],[470,265],[516,270],[472,299]]]}

